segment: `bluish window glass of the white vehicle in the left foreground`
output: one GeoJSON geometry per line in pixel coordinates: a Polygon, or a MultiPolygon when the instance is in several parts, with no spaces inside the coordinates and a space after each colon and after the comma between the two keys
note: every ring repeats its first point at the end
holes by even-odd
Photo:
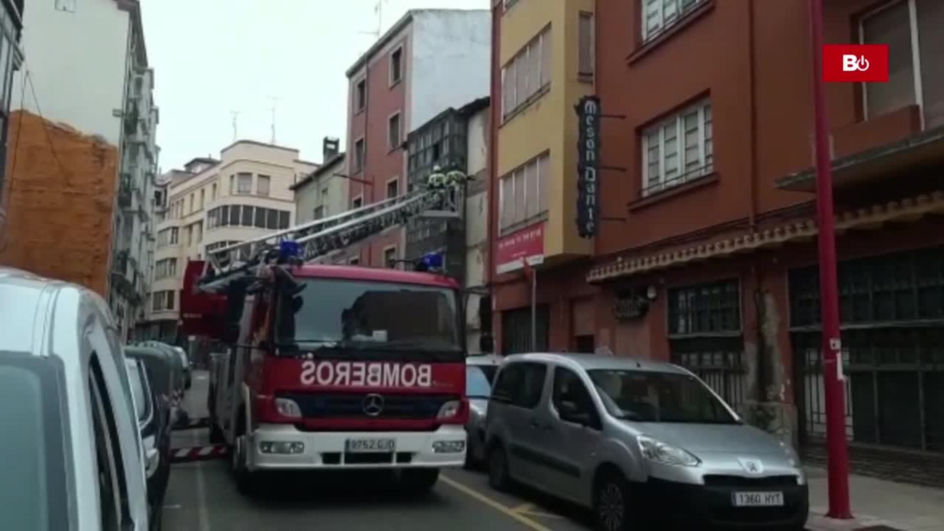
{"type": "Polygon", "coordinates": [[[4,529],[70,528],[61,378],[56,361],[0,352],[4,529]]]}

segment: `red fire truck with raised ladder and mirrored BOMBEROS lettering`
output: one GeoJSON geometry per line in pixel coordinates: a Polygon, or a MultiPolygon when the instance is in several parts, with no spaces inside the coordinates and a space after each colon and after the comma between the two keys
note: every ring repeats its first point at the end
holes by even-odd
{"type": "Polygon", "coordinates": [[[228,445],[241,490],[270,472],[388,469],[426,491],[440,469],[463,466],[464,292],[437,272],[442,257],[413,270],[312,264],[413,216],[458,216],[457,182],[188,264],[183,327],[226,350],[211,437],[228,445]]]}

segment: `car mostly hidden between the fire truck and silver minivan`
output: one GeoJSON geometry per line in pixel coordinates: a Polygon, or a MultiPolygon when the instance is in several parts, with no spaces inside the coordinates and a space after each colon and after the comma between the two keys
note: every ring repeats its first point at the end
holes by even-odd
{"type": "Polygon", "coordinates": [[[465,449],[466,468],[485,460],[485,415],[501,360],[501,356],[496,354],[470,355],[465,358],[465,395],[469,400],[469,420],[465,422],[468,441],[465,449]]]}

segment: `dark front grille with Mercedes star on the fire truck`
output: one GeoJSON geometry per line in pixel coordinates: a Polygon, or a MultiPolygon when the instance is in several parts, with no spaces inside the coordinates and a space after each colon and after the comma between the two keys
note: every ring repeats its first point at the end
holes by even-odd
{"type": "Polygon", "coordinates": [[[377,415],[364,412],[364,402],[373,393],[280,392],[279,398],[294,400],[305,419],[435,419],[444,403],[458,395],[377,393],[383,399],[377,415]]]}

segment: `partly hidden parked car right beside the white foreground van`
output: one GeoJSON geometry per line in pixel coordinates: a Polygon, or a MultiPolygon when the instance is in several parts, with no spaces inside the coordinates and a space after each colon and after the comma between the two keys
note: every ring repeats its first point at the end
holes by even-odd
{"type": "Polygon", "coordinates": [[[160,529],[164,494],[171,471],[171,403],[166,397],[169,361],[155,349],[127,347],[126,364],[144,447],[151,529],[160,529]]]}

